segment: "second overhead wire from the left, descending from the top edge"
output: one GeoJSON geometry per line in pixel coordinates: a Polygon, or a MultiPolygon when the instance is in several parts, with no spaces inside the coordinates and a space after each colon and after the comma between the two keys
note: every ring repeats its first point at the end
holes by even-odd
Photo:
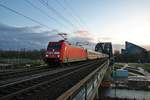
{"type": "Polygon", "coordinates": [[[41,8],[35,6],[32,2],[30,2],[29,0],[24,0],[26,3],[28,3],[29,5],[31,5],[33,8],[37,9],[39,12],[41,12],[42,14],[46,15],[48,18],[52,19],[53,21],[55,21],[56,23],[58,23],[59,25],[63,26],[64,28],[65,25],[61,22],[59,22],[57,19],[55,19],[54,17],[50,16],[49,14],[47,14],[44,10],[42,10],[41,8]]]}

